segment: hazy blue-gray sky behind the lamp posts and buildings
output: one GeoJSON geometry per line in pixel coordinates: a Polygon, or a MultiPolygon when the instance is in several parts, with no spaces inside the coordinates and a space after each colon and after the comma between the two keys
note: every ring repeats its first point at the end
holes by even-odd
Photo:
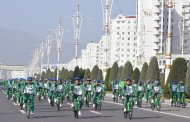
{"type": "MultiPolygon", "coordinates": [[[[135,15],[136,0],[114,0],[112,18],[118,14],[135,15]]],[[[59,18],[65,29],[61,61],[74,57],[71,16],[77,3],[85,20],[81,30],[80,49],[89,41],[98,42],[102,35],[101,0],[0,0],[0,62],[28,64],[40,40],[48,29],[55,29],[59,18]]],[[[54,33],[53,33],[54,34],[54,33]]],[[[51,63],[56,62],[56,42],[53,42],[51,63]]],[[[44,61],[46,63],[46,61],[44,61]]]]}

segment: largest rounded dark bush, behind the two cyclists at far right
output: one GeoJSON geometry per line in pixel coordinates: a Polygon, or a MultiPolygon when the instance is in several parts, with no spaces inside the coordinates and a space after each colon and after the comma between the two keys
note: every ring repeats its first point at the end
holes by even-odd
{"type": "Polygon", "coordinates": [[[176,58],[171,66],[170,73],[167,79],[167,83],[164,87],[164,95],[165,97],[169,96],[168,84],[173,80],[185,81],[187,72],[187,62],[184,58],[176,58]]]}

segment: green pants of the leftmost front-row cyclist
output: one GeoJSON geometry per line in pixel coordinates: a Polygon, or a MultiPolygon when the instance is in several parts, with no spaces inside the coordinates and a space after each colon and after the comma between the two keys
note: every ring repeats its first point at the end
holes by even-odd
{"type": "Polygon", "coordinates": [[[34,112],[34,95],[24,94],[24,103],[27,105],[28,100],[30,100],[30,111],[34,112]]]}

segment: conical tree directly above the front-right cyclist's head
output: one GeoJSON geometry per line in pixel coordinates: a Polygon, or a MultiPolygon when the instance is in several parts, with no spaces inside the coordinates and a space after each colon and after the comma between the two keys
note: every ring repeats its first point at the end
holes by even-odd
{"type": "Polygon", "coordinates": [[[124,80],[126,77],[131,78],[132,74],[133,74],[132,64],[131,62],[127,61],[121,72],[120,80],[124,80]]]}

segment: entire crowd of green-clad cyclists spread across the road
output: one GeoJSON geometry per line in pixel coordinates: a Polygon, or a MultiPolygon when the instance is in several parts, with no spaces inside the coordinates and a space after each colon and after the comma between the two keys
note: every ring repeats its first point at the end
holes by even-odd
{"type": "MultiPolygon", "coordinates": [[[[20,106],[20,109],[26,107],[30,100],[30,114],[34,114],[34,98],[38,96],[39,101],[47,99],[48,103],[53,107],[56,104],[60,110],[63,101],[66,99],[71,102],[75,117],[81,115],[81,109],[85,103],[86,107],[92,103],[95,110],[101,110],[102,101],[105,98],[106,87],[102,80],[82,80],[75,77],[73,80],[63,81],[55,78],[42,80],[34,80],[33,77],[27,79],[9,79],[4,82],[6,86],[6,94],[8,99],[13,99],[14,104],[20,106]]],[[[171,95],[171,105],[185,107],[185,93],[187,88],[183,81],[172,81],[169,85],[171,95]]],[[[155,81],[132,81],[126,78],[124,81],[115,80],[111,82],[112,98],[114,102],[122,100],[124,106],[124,116],[132,118],[133,106],[142,106],[143,97],[146,103],[151,104],[152,110],[161,108],[161,94],[163,89],[160,82],[155,81]]]]}

